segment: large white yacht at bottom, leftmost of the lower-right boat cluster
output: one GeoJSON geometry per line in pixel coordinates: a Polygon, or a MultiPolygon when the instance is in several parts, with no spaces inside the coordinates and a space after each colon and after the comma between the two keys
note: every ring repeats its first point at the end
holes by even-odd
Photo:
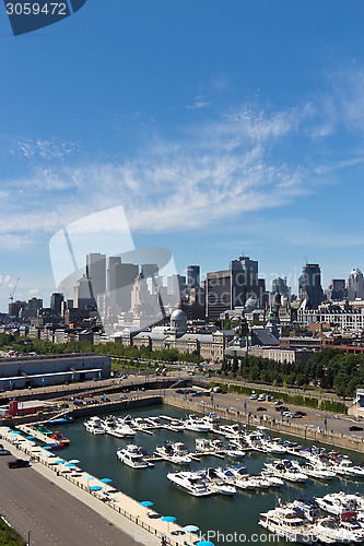
{"type": "Polygon", "coordinates": [[[293,509],[279,507],[260,514],[259,525],[289,542],[314,544],[313,526],[293,509]]]}

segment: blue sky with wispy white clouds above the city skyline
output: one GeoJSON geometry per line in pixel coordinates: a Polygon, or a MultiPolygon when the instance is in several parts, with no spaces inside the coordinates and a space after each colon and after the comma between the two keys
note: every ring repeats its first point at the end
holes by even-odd
{"type": "MultiPolygon", "coordinates": [[[[179,272],[364,268],[364,4],[89,0],[13,37],[0,11],[0,310],[55,290],[49,240],[122,205],[179,272]]],[[[95,248],[95,251],[103,250],[95,248]]]]}

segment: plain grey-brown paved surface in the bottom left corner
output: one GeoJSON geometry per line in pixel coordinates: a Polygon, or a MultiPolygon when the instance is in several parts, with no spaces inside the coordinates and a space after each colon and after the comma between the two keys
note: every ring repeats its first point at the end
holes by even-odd
{"type": "Polygon", "coordinates": [[[138,544],[34,468],[9,470],[11,459],[0,458],[0,512],[32,546],[138,544]]]}

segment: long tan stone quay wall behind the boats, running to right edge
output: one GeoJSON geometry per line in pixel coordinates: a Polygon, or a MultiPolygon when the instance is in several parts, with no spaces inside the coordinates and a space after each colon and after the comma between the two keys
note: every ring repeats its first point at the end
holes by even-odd
{"type": "Polygon", "coordinates": [[[219,417],[223,419],[230,419],[237,423],[244,423],[248,426],[265,426],[269,430],[274,432],[285,434],[290,436],[295,436],[297,438],[303,438],[304,440],[313,440],[314,442],[328,443],[330,446],[348,449],[350,451],[356,451],[359,453],[364,453],[364,439],[352,438],[344,435],[339,435],[336,432],[319,432],[317,429],[305,427],[298,424],[281,423],[277,419],[262,419],[262,417],[255,417],[245,415],[242,412],[233,411],[230,408],[218,407],[216,405],[209,404],[207,402],[195,402],[191,400],[183,400],[172,396],[163,396],[163,404],[171,405],[174,407],[179,407],[186,410],[189,413],[193,412],[214,412],[219,417]]]}

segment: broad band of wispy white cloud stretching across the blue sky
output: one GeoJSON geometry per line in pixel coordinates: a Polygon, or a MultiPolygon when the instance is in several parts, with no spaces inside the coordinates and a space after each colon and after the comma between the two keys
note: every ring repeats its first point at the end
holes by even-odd
{"type": "MultiPolygon", "coordinates": [[[[334,88],[280,111],[242,105],[219,117],[210,114],[210,121],[185,128],[178,140],[152,131],[149,145],[132,159],[34,162],[31,175],[1,180],[0,246],[21,246],[119,204],[131,229],[172,233],[295,203],[331,183],[332,170],[363,163],[361,146],[354,153],[348,145],[339,156],[331,145],[339,128],[352,122],[348,131],[360,132],[354,105],[344,97],[356,103],[364,120],[362,79],[357,72],[351,95],[334,88]]],[[[195,107],[207,106],[206,97],[196,97],[195,107]]],[[[17,150],[26,157],[57,159],[75,147],[20,140],[17,150]]]]}

